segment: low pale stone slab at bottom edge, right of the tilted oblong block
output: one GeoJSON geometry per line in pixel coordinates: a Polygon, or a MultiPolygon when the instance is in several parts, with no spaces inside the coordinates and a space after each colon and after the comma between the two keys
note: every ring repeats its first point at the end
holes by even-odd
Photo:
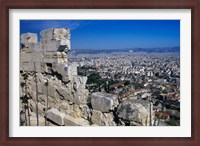
{"type": "Polygon", "coordinates": [[[64,118],[65,126],[89,126],[89,121],[83,118],[73,118],[66,115],[64,118]]]}

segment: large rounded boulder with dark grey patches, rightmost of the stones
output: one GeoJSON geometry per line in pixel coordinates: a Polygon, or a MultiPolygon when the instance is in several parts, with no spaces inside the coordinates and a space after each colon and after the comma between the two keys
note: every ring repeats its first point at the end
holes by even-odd
{"type": "MultiPolygon", "coordinates": [[[[125,99],[117,108],[117,115],[123,121],[137,123],[138,125],[147,126],[150,123],[150,112],[148,102],[139,100],[125,99]],[[145,106],[144,106],[145,105],[145,106]]],[[[152,120],[153,120],[153,111],[152,120]]],[[[152,121],[153,123],[153,121],[152,121]]],[[[136,125],[136,124],[135,124],[136,125]]]]}

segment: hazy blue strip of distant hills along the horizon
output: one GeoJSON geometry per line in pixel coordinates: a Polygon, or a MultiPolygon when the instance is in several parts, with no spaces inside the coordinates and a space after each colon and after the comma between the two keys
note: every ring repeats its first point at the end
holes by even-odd
{"type": "Polygon", "coordinates": [[[180,52],[180,47],[163,47],[163,48],[124,48],[124,49],[72,49],[76,54],[98,54],[98,53],[113,53],[113,52],[147,52],[147,53],[164,53],[164,52],[180,52]]]}

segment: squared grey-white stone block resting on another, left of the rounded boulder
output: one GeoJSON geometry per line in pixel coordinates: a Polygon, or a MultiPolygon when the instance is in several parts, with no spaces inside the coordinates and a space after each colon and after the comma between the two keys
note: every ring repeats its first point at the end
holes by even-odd
{"type": "Polygon", "coordinates": [[[117,96],[115,95],[95,92],[91,95],[91,104],[94,110],[110,112],[114,110],[115,107],[117,107],[119,102],[117,96]]]}

